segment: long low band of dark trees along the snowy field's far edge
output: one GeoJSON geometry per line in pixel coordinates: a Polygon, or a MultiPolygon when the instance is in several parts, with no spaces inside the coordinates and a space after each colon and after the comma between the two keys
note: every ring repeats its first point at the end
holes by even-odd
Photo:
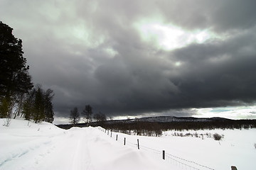
{"type": "MultiPolygon", "coordinates": [[[[97,124],[95,124],[97,126],[97,124]]],[[[256,128],[256,120],[211,120],[211,121],[177,121],[177,122],[145,122],[135,119],[131,122],[109,121],[102,128],[131,135],[159,136],[168,130],[214,130],[220,129],[250,129],[256,128]]]]}

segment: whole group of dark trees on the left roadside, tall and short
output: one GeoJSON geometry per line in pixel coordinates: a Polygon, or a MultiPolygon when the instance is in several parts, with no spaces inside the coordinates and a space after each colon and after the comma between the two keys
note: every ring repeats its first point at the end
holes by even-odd
{"type": "Polygon", "coordinates": [[[21,116],[27,120],[53,122],[53,90],[33,86],[22,40],[12,34],[13,28],[0,21],[0,118],[21,116]]]}

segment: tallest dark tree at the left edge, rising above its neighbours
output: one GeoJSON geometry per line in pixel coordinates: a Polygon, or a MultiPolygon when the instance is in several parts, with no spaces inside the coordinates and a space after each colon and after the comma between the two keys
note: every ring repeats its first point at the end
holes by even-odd
{"type": "Polygon", "coordinates": [[[12,30],[0,21],[0,118],[10,116],[15,103],[21,103],[23,94],[33,87],[22,41],[14,37],[12,30]]]}

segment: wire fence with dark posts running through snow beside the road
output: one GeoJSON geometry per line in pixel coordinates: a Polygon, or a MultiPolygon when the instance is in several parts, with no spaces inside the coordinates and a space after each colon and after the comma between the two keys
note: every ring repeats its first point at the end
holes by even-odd
{"type": "Polygon", "coordinates": [[[145,152],[149,152],[150,154],[154,154],[154,156],[158,159],[164,160],[164,162],[168,162],[171,164],[175,164],[176,166],[179,166],[181,169],[188,169],[188,170],[205,170],[210,169],[214,170],[208,166],[204,166],[202,164],[198,164],[196,162],[183,159],[181,157],[177,157],[174,154],[166,153],[165,150],[159,151],[157,149],[153,149],[151,147],[146,147],[144,145],[139,144],[139,139],[135,142],[130,142],[127,140],[127,137],[119,139],[118,135],[120,133],[112,132],[111,130],[105,130],[104,128],[98,127],[99,130],[102,132],[105,132],[110,137],[114,138],[117,142],[119,142],[122,145],[127,145],[129,147],[137,147],[138,149],[141,149],[145,152]]]}

